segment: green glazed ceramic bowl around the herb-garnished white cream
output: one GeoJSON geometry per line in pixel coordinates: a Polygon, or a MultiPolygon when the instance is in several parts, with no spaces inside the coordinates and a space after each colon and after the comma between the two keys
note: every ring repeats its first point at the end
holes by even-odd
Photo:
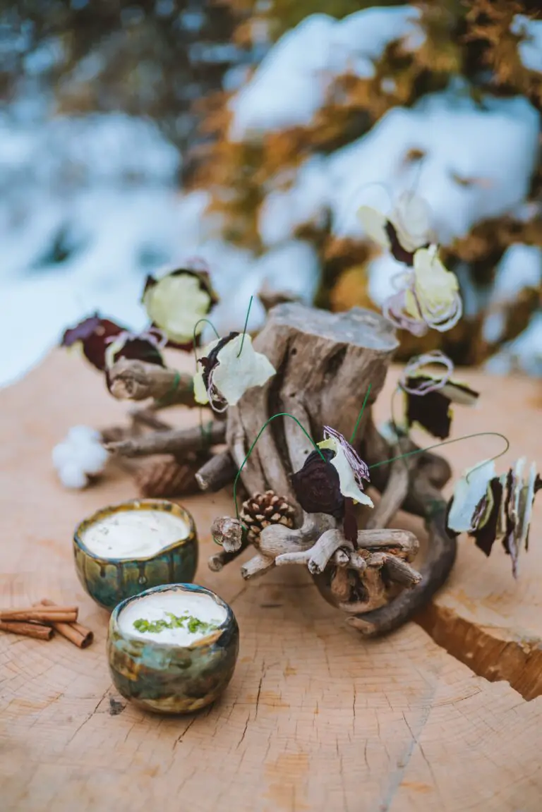
{"type": "Polygon", "coordinates": [[[107,634],[107,660],[119,693],[148,711],[182,714],[215,702],[232,679],[239,652],[239,627],[231,607],[214,592],[195,584],[155,586],[115,607],[107,634]],[[206,637],[181,646],[141,640],[119,628],[119,615],[134,601],[156,592],[209,595],[226,618],[206,637]]]}

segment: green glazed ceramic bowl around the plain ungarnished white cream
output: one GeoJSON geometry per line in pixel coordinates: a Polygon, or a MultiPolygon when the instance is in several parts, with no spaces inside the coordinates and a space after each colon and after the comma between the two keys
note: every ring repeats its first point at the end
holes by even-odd
{"type": "Polygon", "coordinates": [[[132,499],[102,508],[76,527],[73,537],[77,576],[83,588],[99,606],[111,611],[117,603],[132,598],[151,586],[189,583],[197,568],[196,525],[190,513],[167,499],[132,499]],[[134,510],[158,510],[173,513],[188,526],[180,538],[149,558],[101,558],[81,541],[85,530],[114,513],[134,510]]]}

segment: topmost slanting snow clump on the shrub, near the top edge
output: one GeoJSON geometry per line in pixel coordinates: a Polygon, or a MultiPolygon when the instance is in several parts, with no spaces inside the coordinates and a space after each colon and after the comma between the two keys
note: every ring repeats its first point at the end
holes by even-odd
{"type": "Polygon", "coordinates": [[[336,76],[350,71],[371,79],[375,60],[390,42],[421,45],[418,17],[413,6],[369,8],[341,20],[326,14],[306,17],[280,38],[232,98],[231,140],[310,123],[336,76]]]}

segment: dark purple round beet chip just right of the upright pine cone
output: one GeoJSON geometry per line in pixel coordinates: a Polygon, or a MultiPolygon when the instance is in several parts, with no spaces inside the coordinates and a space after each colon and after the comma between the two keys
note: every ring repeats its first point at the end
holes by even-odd
{"type": "Polygon", "coordinates": [[[344,516],[345,497],[340,493],[339,474],[330,462],[334,456],[328,448],[321,453],[312,451],[303,467],[292,475],[297,501],[306,513],[327,513],[336,519],[344,516]]]}

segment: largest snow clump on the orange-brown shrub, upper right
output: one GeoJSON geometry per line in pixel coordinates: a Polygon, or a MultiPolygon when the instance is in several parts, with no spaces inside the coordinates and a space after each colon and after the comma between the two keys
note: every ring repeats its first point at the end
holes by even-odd
{"type": "Polygon", "coordinates": [[[290,188],[267,196],[260,235],[274,244],[328,208],[336,235],[360,238],[362,203],[386,212],[400,192],[415,190],[431,209],[440,242],[449,244],[476,222],[522,202],[539,127],[540,115],[525,98],[487,98],[482,109],[452,84],[410,110],[389,110],[365,136],[329,157],[306,161],[290,188]],[[423,160],[408,162],[410,150],[422,152],[423,160]]]}

